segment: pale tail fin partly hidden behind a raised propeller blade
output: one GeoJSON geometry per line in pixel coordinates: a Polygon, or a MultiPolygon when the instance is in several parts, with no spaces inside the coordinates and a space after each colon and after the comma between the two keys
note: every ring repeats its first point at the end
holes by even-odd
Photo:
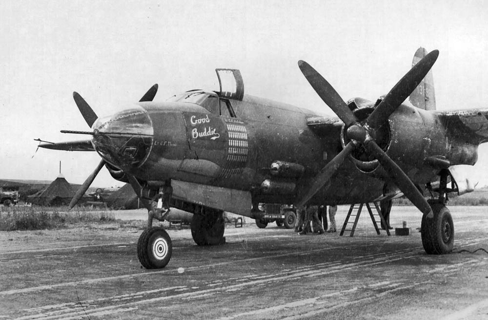
{"type": "MultiPolygon", "coordinates": [[[[418,48],[413,56],[412,66],[417,64],[426,55],[427,50],[425,48],[418,48]]],[[[424,80],[422,80],[417,88],[410,94],[409,100],[415,107],[424,110],[435,110],[435,91],[432,70],[429,70],[424,80]]]]}

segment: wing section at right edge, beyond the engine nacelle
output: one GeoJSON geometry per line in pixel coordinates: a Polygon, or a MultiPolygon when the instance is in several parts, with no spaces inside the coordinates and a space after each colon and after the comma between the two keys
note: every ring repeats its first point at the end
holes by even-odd
{"type": "Polygon", "coordinates": [[[488,142],[488,109],[437,112],[447,133],[467,139],[470,143],[488,142]]]}

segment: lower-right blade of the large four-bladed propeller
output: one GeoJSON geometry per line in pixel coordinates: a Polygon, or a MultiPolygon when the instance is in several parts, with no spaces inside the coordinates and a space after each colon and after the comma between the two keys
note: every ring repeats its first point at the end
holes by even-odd
{"type": "Polygon", "coordinates": [[[432,209],[407,174],[405,174],[405,172],[403,172],[403,170],[388,157],[386,152],[383,151],[376,142],[370,140],[367,142],[366,147],[375,155],[376,159],[378,159],[380,164],[392,178],[393,182],[405,194],[408,200],[410,200],[422,213],[430,216],[432,209]]]}

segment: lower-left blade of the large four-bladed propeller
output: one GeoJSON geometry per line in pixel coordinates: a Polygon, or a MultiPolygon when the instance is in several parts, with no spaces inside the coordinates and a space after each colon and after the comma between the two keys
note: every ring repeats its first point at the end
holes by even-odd
{"type": "Polygon", "coordinates": [[[297,207],[303,207],[305,203],[317,193],[320,188],[324,187],[332,175],[339,169],[346,157],[356,148],[353,142],[349,142],[338,155],[330,160],[325,167],[314,177],[311,186],[303,193],[300,201],[296,203],[297,207]]]}

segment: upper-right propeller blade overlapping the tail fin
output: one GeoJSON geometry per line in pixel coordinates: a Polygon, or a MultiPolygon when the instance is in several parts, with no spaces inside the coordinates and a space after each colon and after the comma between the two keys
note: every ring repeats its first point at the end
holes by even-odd
{"type": "Polygon", "coordinates": [[[366,122],[372,128],[381,127],[390,115],[407,99],[410,93],[422,82],[434,65],[439,50],[433,50],[415,64],[410,71],[386,94],[382,102],[369,115],[366,122]]]}

